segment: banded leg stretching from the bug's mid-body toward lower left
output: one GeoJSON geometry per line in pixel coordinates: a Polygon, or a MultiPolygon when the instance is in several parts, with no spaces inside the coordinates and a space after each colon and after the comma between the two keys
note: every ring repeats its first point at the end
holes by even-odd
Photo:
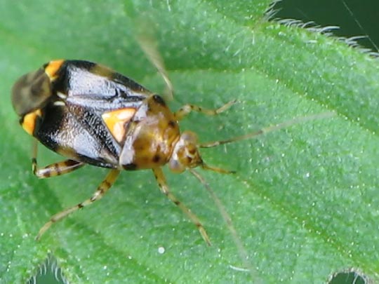
{"type": "Polygon", "coordinates": [[[39,232],[36,236],[36,240],[38,241],[39,238],[50,228],[52,224],[55,222],[58,222],[59,220],[65,218],[70,213],[77,211],[81,208],[84,208],[84,206],[90,205],[91,203],[99,200],[104,196],[104,194],[107,193],[107,191],[112,187],[112,184],[114,184],[114,181],[117,179],[120,171],[119,170],[110,170],[107,177],[105,177],[105,180],[101,182],[101,184],[98,186],[98,189],[96,189],[95,193],[91,198],[86,199],[85,201],[78,203],[77,205],[72,206],[71,208],[67,208],[61,212],[58,212],[57,214],[53,215],[53,217],[48,220],[44,226],[42,226],[41,229],[39,229],[39,232]]]}

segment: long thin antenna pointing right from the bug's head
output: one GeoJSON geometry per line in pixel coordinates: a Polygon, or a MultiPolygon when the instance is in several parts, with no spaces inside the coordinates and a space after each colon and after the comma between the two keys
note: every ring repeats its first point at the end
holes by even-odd
{"type": "Polygon", "coordinates": [[[315,119],[326,119],[326,118],[329,118],[329,117],[332,117],[332,116],[335,116],[335,112],[327,111],[327,112],[323,112],[321,114],[314,114],[314,115],[310,115],[310,116],[298,116],[298,117],[295,117],[295,119],[290,119],[288,121],[284,121],[282,123],[278,123],[278,124],[276,124],[274,126],[268,126],[266,128],[262,128],[260,130],[257,130],[255,132],[253,132],[253,133],[248,133],[248,134],[245,134],[245,135],[233,137],[233,138],[227,139],[227,140],[220,140],[220,141],[201,143],[201,144],[199,144],[199,147],[201,147],[201,148],[211,148],[211,147],[215,147],[215,146],[222,145],[222,144],[227,144],[227,143],[232,143],[232,142],[236,142],[236,141],[251,139],[253,137],[257,137],[259,135],[270,133],[272,131],[279,130],[281,128],[286,128],[288,126],[292,126],[294,124],[298,124],[298,123],[301,123],[301,122],[313,121],[315,119]]]}

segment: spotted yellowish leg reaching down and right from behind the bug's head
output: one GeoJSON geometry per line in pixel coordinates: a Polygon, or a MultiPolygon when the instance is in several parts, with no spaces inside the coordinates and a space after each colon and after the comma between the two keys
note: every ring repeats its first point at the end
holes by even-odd
{"type": "Polygon", "coordinates": [[[208,237],[208,234],[206,234],[206,230],[204,229],[204,226],[201,224],[199,218],[197,215],[194,215],[194,213],[191,212],[187,208],[187,206],[184,203],[181,203],[176,196],[174,196],[171,191],[168,189],[167,183],[166,183],[166,178],[164,177],[164,173],[161,168],[153,168],[153,173],[155,176],[155,179],[157,180],[159,184],[159,189],[161,189],[161,192],[167,196],[168,199],[173,201],[175,205],[177,205],[182,212],[185,213],[191,219],[191,221],[197,226],[197,229],[199,229],[199,232],[201,236],[204,238],[204,241],[208,244],[211,245],[211,240],[208,237]]]}

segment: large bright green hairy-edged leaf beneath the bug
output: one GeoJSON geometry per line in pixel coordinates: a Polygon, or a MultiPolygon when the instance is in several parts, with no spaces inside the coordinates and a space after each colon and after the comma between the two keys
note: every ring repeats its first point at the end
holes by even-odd
{"type": "MultiPolygon", "coordinates": [[[[48,255],[72,283],[320,283],[352,267],[379,280],[378,60],[318,32],[267,21],[269,1],[236,2],[0,2],[2,283],[34,276],[48,255]],[[140,19],[154,25],[175,86],[172,109],[239,101],[219,116],[191,114],[181,123],[202,142],[336,113],[201,151],[206,163],[237,170],[199,171],[231,215],[252,273],[237,269],[244,261],[230,229],[189,173],[165,171],[211,247],[149,171],[122,173],[102,201],[34,241],[48,217],[91,196],[107,170],[34,177],[31,139],[9,100],[13,82],[48,60],[86,59],[159,93],[164,83],[135,41],[140,19]]],[[[40,152],[41,165],[62,159],[40,152]]]]}

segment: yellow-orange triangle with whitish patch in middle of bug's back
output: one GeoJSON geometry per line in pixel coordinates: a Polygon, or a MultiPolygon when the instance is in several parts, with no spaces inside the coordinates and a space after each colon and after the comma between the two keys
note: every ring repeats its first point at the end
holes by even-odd
{"type": "Polygon", "coordinates": [[[101,117],[114,139],[117,142],[122,142],[126,131],[125,125],[131,121],[134,114],[135,109],[127,107],[105,112],[101,117]]]}

